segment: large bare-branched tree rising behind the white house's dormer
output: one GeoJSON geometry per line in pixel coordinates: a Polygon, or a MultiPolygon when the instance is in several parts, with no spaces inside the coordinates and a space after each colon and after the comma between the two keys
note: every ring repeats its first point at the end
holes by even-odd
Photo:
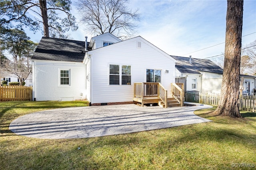
{"type": "Polygon", "coordinates": [[[111,33],[126,39],[135,34],[136,22],[140,21],[138,10],[132,12],[127,7],[129,0],[79,0],[76,7],[81,14],[81,22],[92,34],[111,33]]]}

